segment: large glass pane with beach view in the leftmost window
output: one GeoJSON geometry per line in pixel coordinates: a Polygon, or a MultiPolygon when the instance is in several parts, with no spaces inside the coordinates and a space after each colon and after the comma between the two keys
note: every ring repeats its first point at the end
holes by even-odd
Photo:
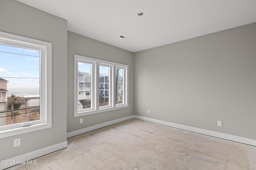
{"type": "Polygon", "coordinates": [[[0,44],[0,126],[40,120],[40,51],[0,44]]]}

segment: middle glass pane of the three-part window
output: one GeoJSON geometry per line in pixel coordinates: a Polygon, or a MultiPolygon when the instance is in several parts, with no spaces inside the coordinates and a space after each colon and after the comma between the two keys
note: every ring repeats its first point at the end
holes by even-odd
{"type": "Polygon", "coordinates": [[[99,106],[109,106],[109,66],[101,66],[100,65],[100,77],[99,77],[99,90],[100,90],[100,97],[99,97],[99,106]]]}

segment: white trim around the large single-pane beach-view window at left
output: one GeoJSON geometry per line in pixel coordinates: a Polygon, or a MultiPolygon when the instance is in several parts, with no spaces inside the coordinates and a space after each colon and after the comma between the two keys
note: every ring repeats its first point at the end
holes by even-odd
{"type": "Polygon", "coordinates": [[[0,126],[0,138],[52,127],[52,43],[0,31],[0,43],[40,51],[40,120],[0,126]]]}

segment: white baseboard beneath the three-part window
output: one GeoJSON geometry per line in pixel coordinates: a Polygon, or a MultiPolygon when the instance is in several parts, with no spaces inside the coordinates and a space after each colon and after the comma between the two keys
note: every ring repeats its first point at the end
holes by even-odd
{"type": "Polygon", "coordinates": [[[68,132],[67,133],[67,138],[74,137],[76,135],[81,135],[83,133],[94,131],[96,129],[100,129],[102,127],[106,127],[106,126],[110,126],[110,125],[113,125],[113,124],[116,124],[116,123],[120,123],[122,121],[126,121],[126,120],[129,120],[129,119],[132,119],[132,118],[134,118],[134,115],[130,115],[130,116],[127,116],[127,117],[122,117],[120,119],[115,119],[115,120],[112,120],[112,121],[107,121],[107,122],[104,122],[104,123],[100,123],[98,125],[93,125],[93,126],[86,127],[86,128],[83,128],[83,129],[78,129],[76,131],[68,132]]]}

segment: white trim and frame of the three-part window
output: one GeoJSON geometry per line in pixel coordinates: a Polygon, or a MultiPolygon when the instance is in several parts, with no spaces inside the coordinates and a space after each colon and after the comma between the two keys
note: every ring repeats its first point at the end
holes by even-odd
{"type": "Polygon", "coordinates": [[[122,109],[129,107],[128,104],[128,72],[129,66],[126,64],[114,63],[110,61],[104,61],[100,59],[94,59],[90,57],[85,57],[81,55],[74,55],[74,117],[90,115],[94,113],[100,113],[105,111],[111,111],[116,109],[122,109]],[[81,109],[77,110],[78,106],[78,62],[84,63],[93,63],[92,74],[91,74],[91,104],[94,105],[90,109],[81,109]],[[105,65],[110,66],[109,72],[109,105],[108,106],[99,106],[99,66],[105,65]],[[116,67],[123,68],[123,103],[116,104],[116,67]],[[110,97],[111,96],[111,97],[110,97]]]}

